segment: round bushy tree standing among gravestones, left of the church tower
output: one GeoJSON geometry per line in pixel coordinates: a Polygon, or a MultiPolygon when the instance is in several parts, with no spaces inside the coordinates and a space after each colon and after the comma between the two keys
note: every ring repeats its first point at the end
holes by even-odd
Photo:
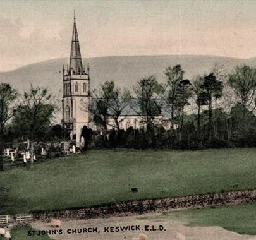
{"type": "Polygon", "coordinates": [[[30,143],[30,160],[34,162],[35,141],[42,140],[51,128],[57,104],[47,88],[33,86],[21,94],[20,99],[21,103],[14,113],[13,126],[30,143]]]}

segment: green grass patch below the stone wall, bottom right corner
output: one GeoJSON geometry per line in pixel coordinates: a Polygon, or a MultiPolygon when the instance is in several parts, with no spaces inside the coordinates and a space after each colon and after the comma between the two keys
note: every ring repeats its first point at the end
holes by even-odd
{"type": "Polygon", "coordinates": [[[219,226],[240,234],[256,235],[256,203],[162,213],[163,218],[188,222],[188,226],[219,226]]]}

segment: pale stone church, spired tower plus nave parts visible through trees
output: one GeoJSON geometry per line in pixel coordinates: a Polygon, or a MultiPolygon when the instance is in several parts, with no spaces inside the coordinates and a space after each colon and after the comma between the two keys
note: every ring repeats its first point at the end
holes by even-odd
{"type": "MultiPolygon", "coordinates": [[[[63,65],[62,122],[64,126],[71,129],[71,140],[76,141],[77,145],[83,141],[81,139],[83,126],[96,129],[90,111],[88,111],[89,106],[95,105],[95,100],[97,99],[90,95],[90,66],[87,63],[87,69],[85,69],[82,62],[76,18],[74,16],[70,64],[66,66],[66,69],[63,65]]],[[[135,129],[145,128],[143,117],[138,112],[132,102],[130,106],[123,109],[119,119],[120,128],[125,130],[130,127],[135,129]]],[[[157,116],[155,121],[164,128],[170,128],[168,117],[157,116]]],[[[114,119],[109,119],[109,129],[113,128],[111,125],[114,125],[114,119]]]]}

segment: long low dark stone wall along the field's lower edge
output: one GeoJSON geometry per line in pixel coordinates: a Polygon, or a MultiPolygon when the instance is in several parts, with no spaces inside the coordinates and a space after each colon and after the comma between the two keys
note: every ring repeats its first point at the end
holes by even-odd
{"type": "Polygon", "coordinates": [[[120,215],[142,214],[171,209],[198,208],[224,204],[238,204],[256,200],[256,189],[248,191],[231,191],[209,193],[179,198],[159,198],[153,200],[126,201],[101,207],[86,207],[54,212],[32,212],[34,220],[49,221],[56,219],[95,219],[120,215]]]}

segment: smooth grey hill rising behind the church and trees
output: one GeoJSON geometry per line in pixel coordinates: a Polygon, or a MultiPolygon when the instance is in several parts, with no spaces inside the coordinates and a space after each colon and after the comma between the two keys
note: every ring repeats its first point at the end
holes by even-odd
{"type": "MultiPolygon", "coordinates": [[[[151,74],[162,81],[163,71],[175,64],[181,64],[186,71],[186,78],[209,73],[214,63],[224,65],[228,71],[243,63],[256,66],[256,58],[235,59],[220,56],[113,56],[83,59],[84,64],[87,62],[90,63],[92,89],[111,80],[120,87],[131,87],[142,76],[151,74]]],[[[68,59],[54,59],[2,72],[0,83],[9,82],[20,91],[32,83],[34,86],[47,86],[52,93],[58,94],[62,88],[63,64],[66,66],[68,59]]]]}

